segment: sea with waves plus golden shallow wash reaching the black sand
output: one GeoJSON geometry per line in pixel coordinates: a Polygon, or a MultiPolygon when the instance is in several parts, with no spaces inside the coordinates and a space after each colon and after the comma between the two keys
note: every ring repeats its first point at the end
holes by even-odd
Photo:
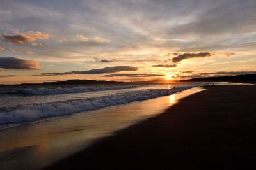
{"type": "Polygon", "coordinates": [[[163,113],[202,83],[0,88],[0,169],[42,169],[163,113]],[[33,162],[33,163],[31,163],[33,162]]]}

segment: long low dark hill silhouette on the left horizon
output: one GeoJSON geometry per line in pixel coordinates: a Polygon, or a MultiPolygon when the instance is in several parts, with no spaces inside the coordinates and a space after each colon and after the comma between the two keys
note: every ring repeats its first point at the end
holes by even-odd
{"type": "MultiPolygon", "coordinates": [[[[66,81],[56,81],[56,82],[44,82],[44,83],[22,83],[20,86],[35,86],[35,85],[89,85],[89,84],[114,84],[123,83],[116,81],[104,81],[104,80],[66,80],[66,81]]],[[[18,84],[17,84],[18,85],[18,84]]],[[[6,86],[6,85],[1,85],[6,86]]]]}

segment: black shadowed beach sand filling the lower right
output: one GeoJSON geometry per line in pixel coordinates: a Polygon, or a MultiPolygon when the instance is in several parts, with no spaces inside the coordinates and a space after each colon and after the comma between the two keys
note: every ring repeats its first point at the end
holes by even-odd
{"type": "Polygon", "coordinates": [[[256,86],[205,88],[49,169],[255,169],[256,86]]]}

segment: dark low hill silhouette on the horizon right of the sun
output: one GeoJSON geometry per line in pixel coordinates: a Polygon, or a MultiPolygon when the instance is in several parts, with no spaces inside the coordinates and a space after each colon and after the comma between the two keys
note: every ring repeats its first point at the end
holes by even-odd
{"type": "Polygon", "coordinates": [[[244,74],[237,76],[216,76],[207,78],[191,78],[189,80],[180,80],[182,82],[236,82],[236,83],[256,83],[256,74],[244,74]]]}

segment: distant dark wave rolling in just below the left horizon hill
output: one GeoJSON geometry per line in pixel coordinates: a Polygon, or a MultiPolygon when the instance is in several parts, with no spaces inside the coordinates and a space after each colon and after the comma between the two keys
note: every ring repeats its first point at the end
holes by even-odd
{"type": "Polygon", "coordinates": [[[68,93],[83,93],[83,92],[97,92],[105,90],[121,90],[121,89],[131,89],[138,87],[136,85],[122,86],[122,87],[70,87],[63,88],[58,87],[54,89],[49,88],[39,88],[39,89],[22,89],[16,90],[14,92],[4,92],[3,94],[8,95],[19,95],[19,96],[33,96],[33,95],[50,95],[50,94],[68,94],[68,93]]]}

